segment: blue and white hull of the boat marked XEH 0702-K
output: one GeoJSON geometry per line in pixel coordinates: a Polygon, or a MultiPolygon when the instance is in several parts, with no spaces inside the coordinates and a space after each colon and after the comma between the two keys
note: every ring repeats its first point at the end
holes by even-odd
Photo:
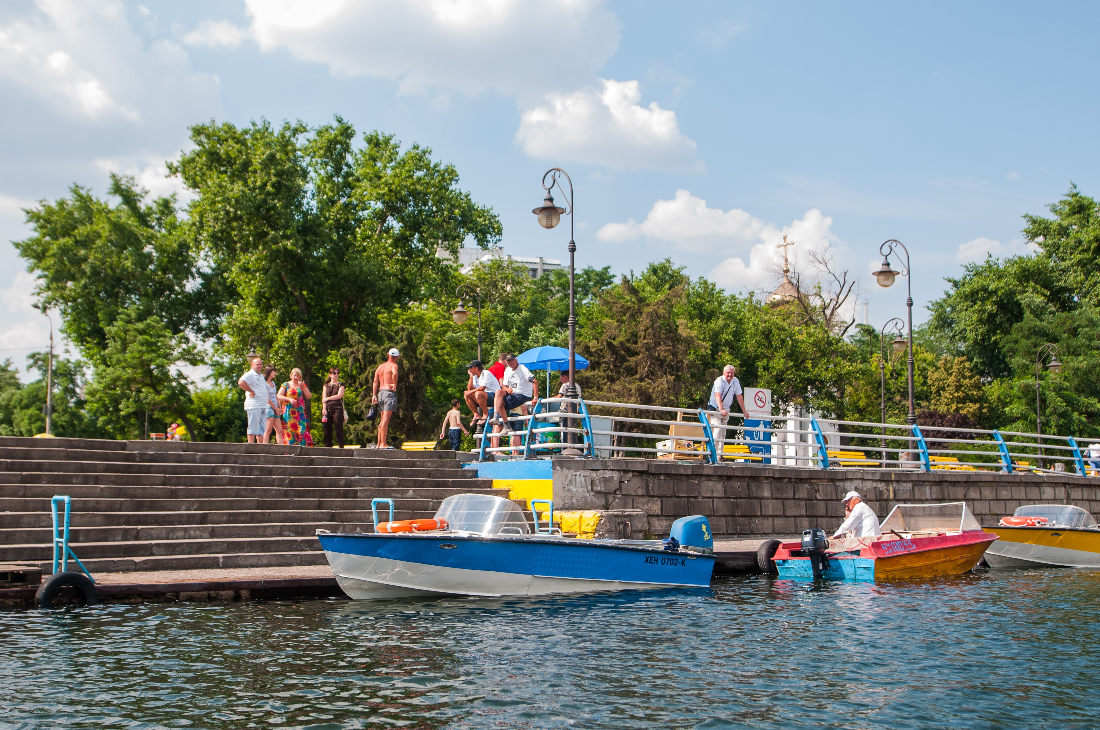
{"type": "Polygon", "coordinates": [[[613,541],[318,534],[352,598],[516,596],[711,584],[714,555],[613,541]]]}

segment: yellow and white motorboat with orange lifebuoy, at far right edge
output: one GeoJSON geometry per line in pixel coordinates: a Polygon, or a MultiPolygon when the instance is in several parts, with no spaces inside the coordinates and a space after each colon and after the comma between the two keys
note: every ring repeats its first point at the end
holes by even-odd
{"type": "Polygon", "coordinates": [[[990,567],[1100,567],[1100,526],[1074,505],[1026,505],[985,530],[990,567]]]}

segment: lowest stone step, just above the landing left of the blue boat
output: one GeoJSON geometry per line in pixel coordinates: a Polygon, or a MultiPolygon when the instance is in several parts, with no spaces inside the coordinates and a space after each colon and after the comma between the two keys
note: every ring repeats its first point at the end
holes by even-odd
{"type": "MultiPolygon", "coordinates": [[[[327,528],[326,528],[327,529],[327,528]]],[[[319,551],[316,534],[289,538],[219,538],[207,540],[134,540],[81,542],[70,545],[82,562],[86,557],[150,557],[229,553],[288,553],[319,551]]],[[[0,545],[0,562],[53,560],[50,544],[0,545]]]]}

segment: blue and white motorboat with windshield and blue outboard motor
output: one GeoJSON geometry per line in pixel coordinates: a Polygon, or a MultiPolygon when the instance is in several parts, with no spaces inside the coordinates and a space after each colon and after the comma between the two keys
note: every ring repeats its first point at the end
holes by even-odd
{"type": "MultiPolygon", "coordinates": [[[[391,518],[393,502],[389,501],[391,518]]],[[[436,512],[447,529],[373,533],[318,530],[340,587],[358,599],[429,596],[541,596],[590,590],[706,587],[714,541],[705,517],[684,517],[666,540],[582,540],[536,515],[535,530],[516,502],[454,495],[436,512]]],[[[376,510],[372,504],[372,509],[376,510]]],[[[534,511],[534,510],[532,510],[534,511]]],[[[381,527],[385,528],[383,523],[381,527]]]]}

